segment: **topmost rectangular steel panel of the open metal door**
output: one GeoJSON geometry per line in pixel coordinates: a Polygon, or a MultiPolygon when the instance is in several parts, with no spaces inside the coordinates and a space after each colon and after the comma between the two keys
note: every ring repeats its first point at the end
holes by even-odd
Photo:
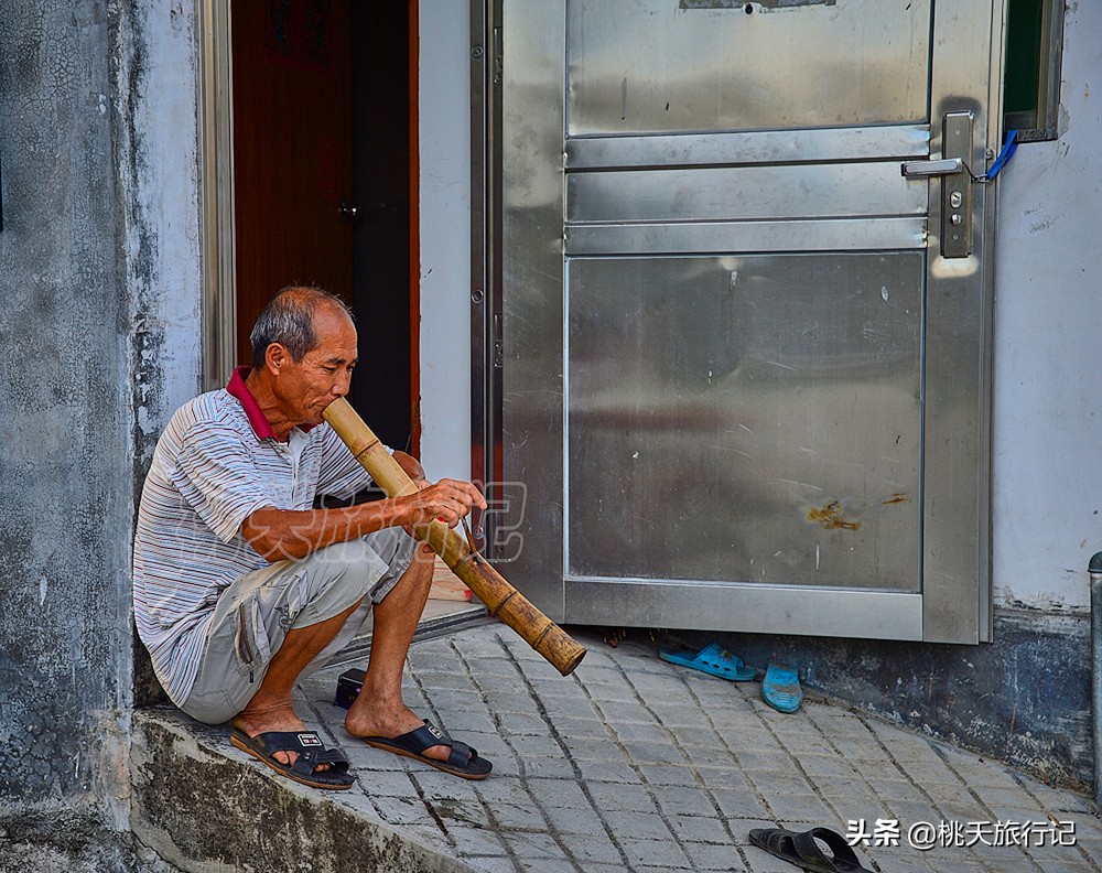
{"type": "Polygon", "coordinates": [[[572,0],[569,134],[927,118],[929,0],[750,8],[572,0]]]}

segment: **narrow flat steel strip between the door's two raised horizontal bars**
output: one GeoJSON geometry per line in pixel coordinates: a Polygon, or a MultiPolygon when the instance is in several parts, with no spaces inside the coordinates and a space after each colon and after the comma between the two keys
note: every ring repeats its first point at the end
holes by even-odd
{"type": "Polygon", "coordinates": [[[579,172],[566,176],[566,220],[710,222],[922,215],[923,185],[899,162],[579,172]]]}

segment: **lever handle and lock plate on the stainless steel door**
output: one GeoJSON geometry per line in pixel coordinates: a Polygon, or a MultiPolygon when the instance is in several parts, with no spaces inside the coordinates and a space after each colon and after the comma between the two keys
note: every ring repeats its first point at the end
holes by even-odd
{"type": "Polygon", "coordinates": [[[971,112],[947,112],[941,123],[941,154],[936,161],[906,161],[899,172],[907,179],[944,176],[941,182],[941,257],[972,254],[971,112]],[[968,170],[968,172],[965,172],[968,170]]]}

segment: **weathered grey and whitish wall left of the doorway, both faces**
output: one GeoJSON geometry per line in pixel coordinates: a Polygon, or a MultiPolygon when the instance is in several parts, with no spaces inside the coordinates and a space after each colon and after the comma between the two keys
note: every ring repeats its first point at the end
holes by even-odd
{"type": "Polygon", "coordinates": [[[198,373],[193,68],[179,2],[0,0],[0,817],[125,821],[134,483],[198,373]]]}

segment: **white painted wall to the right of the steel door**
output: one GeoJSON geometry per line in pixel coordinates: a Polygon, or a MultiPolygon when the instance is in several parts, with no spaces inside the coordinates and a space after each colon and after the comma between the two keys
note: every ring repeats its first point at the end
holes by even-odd
{"type": "Polygon", "coordinates": [[[995,602],[1089,605],[1102,550],[1102,3],[1067,8],[1060,138],[998,181],[995,602]]]}

